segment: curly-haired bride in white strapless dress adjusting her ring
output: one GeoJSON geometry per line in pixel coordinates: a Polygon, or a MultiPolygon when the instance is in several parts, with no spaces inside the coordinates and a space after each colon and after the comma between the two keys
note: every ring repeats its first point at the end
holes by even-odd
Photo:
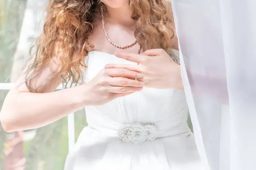
{"type": "Polygon", "coordinates": [[[172,50],[168,0],[50,0],[3,128],[39,128],[85,107],[88,126],[65,170],[205,170],[172,50]],[[61,82],[75,87],[54,92],[61,82]]]}

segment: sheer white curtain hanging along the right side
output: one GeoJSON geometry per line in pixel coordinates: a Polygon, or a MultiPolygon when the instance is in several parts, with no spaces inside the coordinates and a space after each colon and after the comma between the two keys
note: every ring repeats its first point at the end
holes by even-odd
{"type": "Polygon", "coordinates": [[[256,169],[256,0],[172,0],[182,77],[210,170],[256,169]]]}

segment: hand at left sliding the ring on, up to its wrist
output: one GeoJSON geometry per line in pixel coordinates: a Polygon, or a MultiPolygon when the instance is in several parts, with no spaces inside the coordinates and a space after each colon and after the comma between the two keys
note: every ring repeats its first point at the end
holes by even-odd
{"type": "Polygon", "coordinates": [[[136,77],[143,78],[143,75],[122,68],[100,71],[94,79],[85,84],[86,105],[102,105],[117,97],[142,90],[144,83],[135,80],[136,77]]]}

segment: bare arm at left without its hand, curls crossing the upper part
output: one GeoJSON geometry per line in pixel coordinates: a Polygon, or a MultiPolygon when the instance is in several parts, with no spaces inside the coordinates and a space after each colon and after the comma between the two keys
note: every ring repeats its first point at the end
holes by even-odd
{"type": "MultiPolygon", "coordinates": [[[[35,78],[31,87],[39,87],[51,74],[51,69],[58,69],[59,64],[53,62],[35,78]]],[[[59,120],[71,112],[79,110],[86,103],[85,86],[59,90],[54,92],[62,82],[57,77],[47,86],[41,85],[38,93],[29,92],[25,79],[20,77],[13,89],[10,90],[0,112],[0,120],[7,132],[27,130],[47,125],[59,120]]]]}

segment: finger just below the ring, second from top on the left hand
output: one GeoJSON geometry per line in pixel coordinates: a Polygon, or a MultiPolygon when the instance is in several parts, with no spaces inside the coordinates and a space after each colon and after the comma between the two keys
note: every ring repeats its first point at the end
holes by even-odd
{"type": "Polygon", "coordinates": [[[124,86],[124,87],[143,87],[144,83],[138,80],[123,78],[123,77],[110,77],[109,85],[124,86]]]}

